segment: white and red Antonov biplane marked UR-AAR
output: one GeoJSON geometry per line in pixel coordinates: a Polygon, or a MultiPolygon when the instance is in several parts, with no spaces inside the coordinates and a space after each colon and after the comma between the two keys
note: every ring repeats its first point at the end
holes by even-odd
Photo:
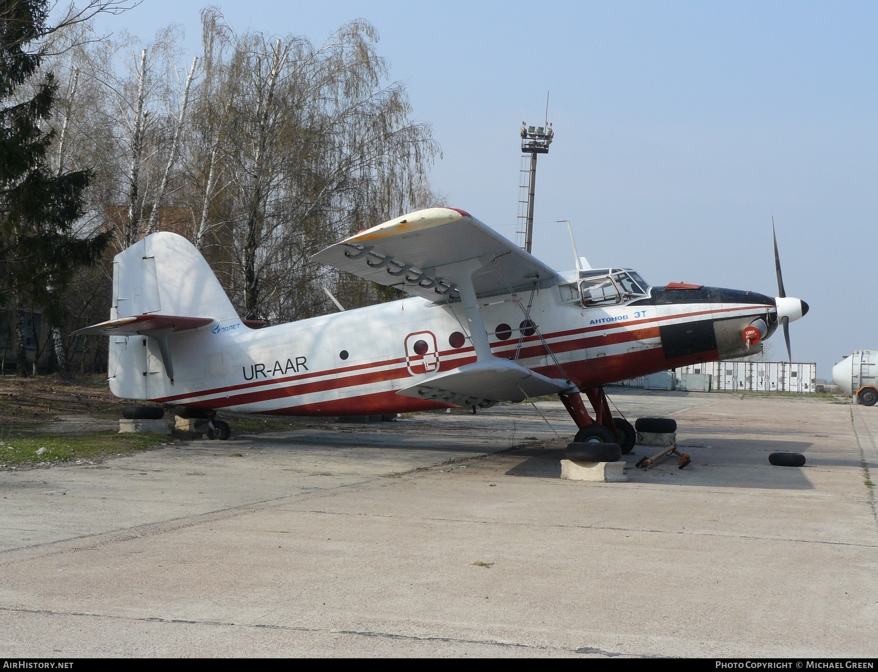
{"type": "Polygon", "coordinates": [[[251,328],[198,250],[159,232],[116,256],[111,319],[79,333],[110,336],[113,394],[182,415],[363,416],[557,394],[576,440],[627,453],[633,428],[613,418],[604,385],[757,353],[779,323],[789,343],[788,322],[808,311],[785,297],[779,261],[777,298],[659,289],[628,268],[558,273],[455,208],[403,215],[314,259],[411,296],[251,328]]]}

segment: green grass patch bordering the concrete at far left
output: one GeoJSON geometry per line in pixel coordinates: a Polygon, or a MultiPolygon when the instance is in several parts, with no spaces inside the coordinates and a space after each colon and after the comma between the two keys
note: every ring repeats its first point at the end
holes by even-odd
{"type": "Polygon", "coordinates": [[[104,456],[133,453],[172,442],[173,439],[164,434],[19,435],[0,440],[0,467],[69,460],[93,461],[104,456]],[[40,448],[46,448],[46,451],[38,454],[40,448]]]}

